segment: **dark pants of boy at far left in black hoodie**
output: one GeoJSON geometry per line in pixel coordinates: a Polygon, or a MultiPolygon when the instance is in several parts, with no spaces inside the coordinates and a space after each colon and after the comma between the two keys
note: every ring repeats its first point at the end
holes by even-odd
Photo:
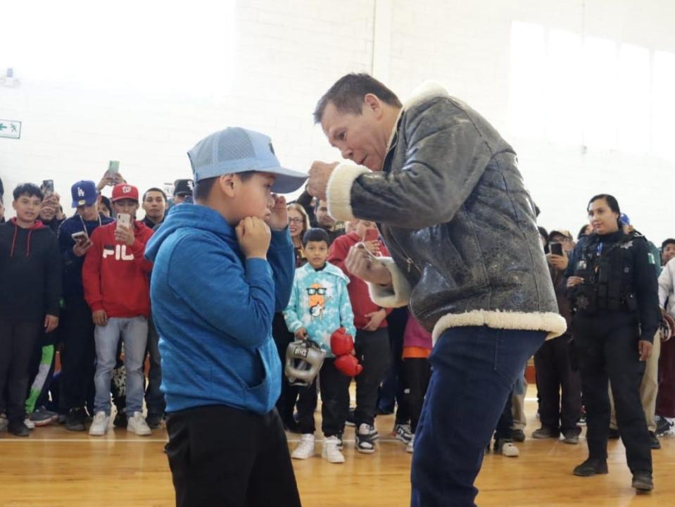
{"type": "Polygon", "coordinates": [[[26,416],[28,366],[42,323],[0,318],[0,413],[11,422],[26,416]]]}

